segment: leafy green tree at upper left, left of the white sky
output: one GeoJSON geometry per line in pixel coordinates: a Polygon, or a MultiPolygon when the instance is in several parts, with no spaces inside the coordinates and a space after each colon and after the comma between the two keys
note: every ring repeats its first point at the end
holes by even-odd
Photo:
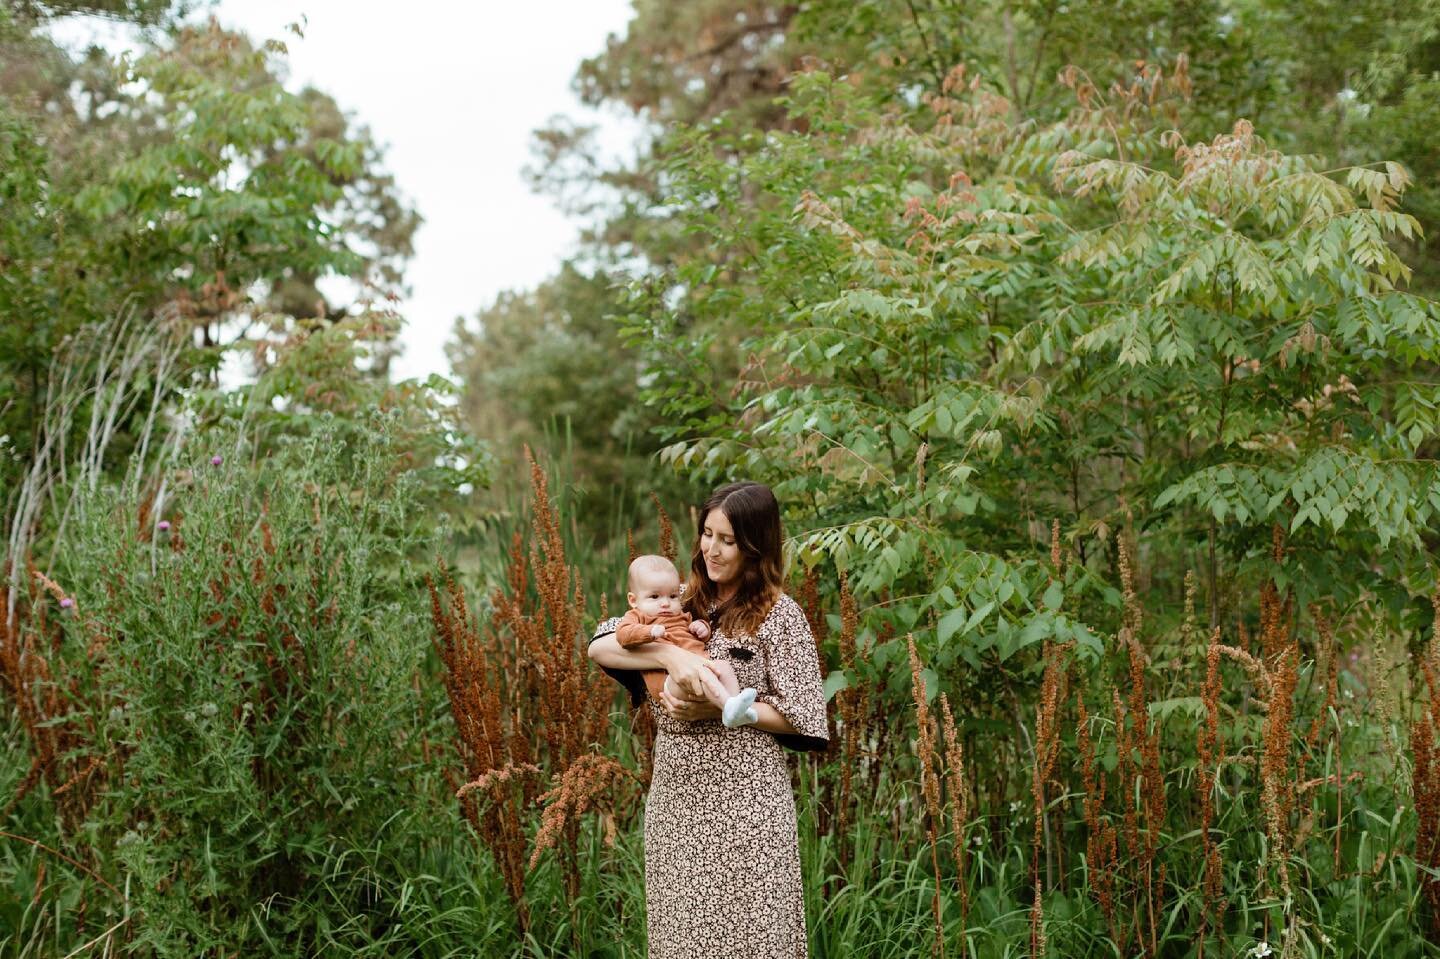
{"type": "MultiPolygon", "coordinates": [[[[151,6],[132,14],[145,20],[151,6]]],[[[72,60],[24,17],[10,27],[0,36],[14,66],[0,86],[7,490],[36,458],[50,357],[66,337],[124,310],[163,315],[200,333],[183,372],[206,374],[220,361],[209,347],[291,323],[268,311],[328,312],[321,275],[399,287],[418,220],[367,131],[348,128],[328,96],[282,88],[284,45],[180,24],[117,63],[98,49],[72,60]]]]}

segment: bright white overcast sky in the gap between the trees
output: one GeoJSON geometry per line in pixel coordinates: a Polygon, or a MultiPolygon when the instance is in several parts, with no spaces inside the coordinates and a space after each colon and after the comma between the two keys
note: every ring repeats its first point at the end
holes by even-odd
{"type": "MultiPolygon", "coordinates": [[[[629,0],[217,4],[223,24],[285,42],[288,86],[328,92],[389,145],[386,167],[425,217],[406,274],[412,295],[399,305],[406,328],[395,379],[448,374],[444,346],[456,317],[536,285],[575,251],[580,225],[531,193],[520,171],[530,132],[554,114],[598,122],[608,151],[631,151],[638,124],[589,111],[570,91],[580,60],[624,33],[631,13],[629,0]],[[301,14],[302,39],[285,30],[301,14]]],[[[104,37],[114,49],[102,23],[72,20],[58,35],[104,37]]]]}

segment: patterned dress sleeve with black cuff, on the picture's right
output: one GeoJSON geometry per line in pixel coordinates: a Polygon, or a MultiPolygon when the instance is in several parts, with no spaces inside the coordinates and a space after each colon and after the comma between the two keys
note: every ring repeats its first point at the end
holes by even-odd
{"type": "Polygon", "coordinates": [[[825,749],[829,742],[825,687],[805,611],[789,596],[780,596],[757,632],[770,691],[755,698],[773,706],[796,730],[778,733],[776,739],[799,752],[825,749]]]}

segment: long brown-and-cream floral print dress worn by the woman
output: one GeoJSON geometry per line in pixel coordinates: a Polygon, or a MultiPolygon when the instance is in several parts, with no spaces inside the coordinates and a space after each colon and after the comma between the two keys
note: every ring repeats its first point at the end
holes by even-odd
{"type": "MultiPolygon", "coordinates": [[[[600,623],[595,638],[615,631],[600,623]]],[[[651,959],[804,959],[795,792],[782,747],[822,749],[825,694],[805,612],[780,596],[755,635],[711,632],[711,659],[729,661],[796,729],[775,734],[720,720],[671,719],[658,703],[645,799],[645,914],[651,959]]],[[[606,670],[635,706],[641,674],[606,670]]]]}

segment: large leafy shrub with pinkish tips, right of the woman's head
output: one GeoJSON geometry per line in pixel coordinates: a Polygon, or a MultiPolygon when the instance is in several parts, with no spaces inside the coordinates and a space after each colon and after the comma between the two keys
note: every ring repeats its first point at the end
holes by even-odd
{"type": "MultiPolygon", "coordinates": [[[[681,438],[662,461],[772,482],[798,557],[871,595],[933,595],[956,556],[1038,546],[1053,518],[1081,556],[1133,521],[1237,570],[1279,523],[1302,602],[1428,593],[1440,310],[1395,287],[1397,164],[1326,174],[1246,124],[1166,147],[1132,115],[1116,141],[1120,107],[995,127],[984,86],[930,128],[824,75],[792,109],[808,132],[674,144],[674,207],[729,259],[683,262],[677,310],[636,288],[645,396],[681,438]],[[737,327],[724,403],[671,359],[723,369],[737,327]]],[[[936,611],[991,602],[956,599],[936,611]]]]}

